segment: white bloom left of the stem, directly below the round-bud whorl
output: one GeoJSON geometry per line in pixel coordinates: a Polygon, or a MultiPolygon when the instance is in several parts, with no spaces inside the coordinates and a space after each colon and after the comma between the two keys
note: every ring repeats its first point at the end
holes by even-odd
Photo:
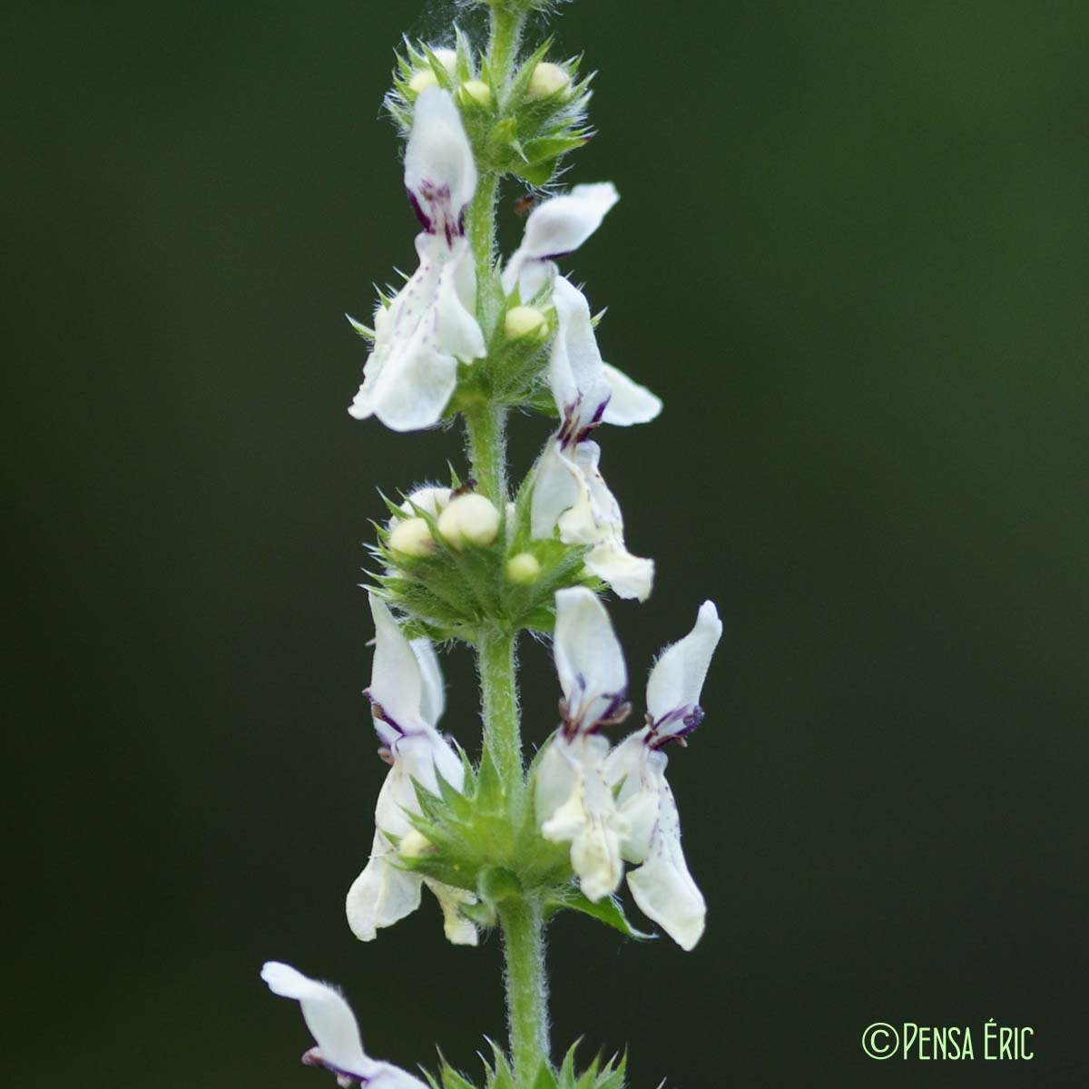
{"type": "Polygon", "coordinates": [[[475,903],[473,894],[402,868],[402,858],[390,840],[414,831],[409,815],[420,812],[414,780],[438,794],[437,776],[442,775],[460,791],[465,768],[435,729],[444,698],[431,644],[427,639],[409,643],[389,609],[374,595],[370,611],[376,638],[367,696],[375,730],[393,767],[378,793],[370,859],[347,893],[348,926],[360,941],[374,940],[380,928],[392,926],[419,907],[420,889],[426,883],[442,908],[446,938],[456,945],[476,945],[476,927],[457,910],[460,904],[475,903]]]}

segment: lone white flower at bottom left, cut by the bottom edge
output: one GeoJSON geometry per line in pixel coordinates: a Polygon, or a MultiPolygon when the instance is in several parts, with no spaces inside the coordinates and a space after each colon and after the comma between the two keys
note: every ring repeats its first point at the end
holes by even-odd
{"type": "Polygon", "coordinates": [[[295,999],[303,1007],[306,1027],[317,1043],[303,1055],[307,1066],[323,1066],[337,1075],[337,1082],[343,1089],[356,1081],[367,1089],[426,1089],[419,1078],[400,1066],[367,1055],[355,1014],[335,988],[279,960],[269,960],[261,968],[261,979],[273,994],[295,999]]]}

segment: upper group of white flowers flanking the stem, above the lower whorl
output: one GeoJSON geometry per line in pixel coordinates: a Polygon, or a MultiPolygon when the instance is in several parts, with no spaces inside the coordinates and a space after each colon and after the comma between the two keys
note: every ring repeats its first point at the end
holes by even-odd
{"type": "MultiPolygon", "coordinates": [[[[458,365],[469,368],[485,356],[465,236],[476,182],[473,148],[453,97],[425,86],[405,152],[405,187],[424,225],[416,237],[419,268],[375,313],[374,348],[348,408],[357,419],[374,415],[397,431],[433,427],[454,397],[458,365]]],[[[533,538],[585,547],[590,574],[621,597],[645,600],[653,563],[627,551],[620,505],[601,475],[601,450],[591,435],[602,423],[647,423],[661,411],[661,401],[604,363],[589,303],[555,264],[600,227],[617,199],[610,183],[577,185],[529,213],[522,245],[500,280],[503,333],[516,344],[554,329],[543,374],[529,376],[523,389],[528,403],[534,384],[547,382],[560,417],[527,481],[533,538]]]]}

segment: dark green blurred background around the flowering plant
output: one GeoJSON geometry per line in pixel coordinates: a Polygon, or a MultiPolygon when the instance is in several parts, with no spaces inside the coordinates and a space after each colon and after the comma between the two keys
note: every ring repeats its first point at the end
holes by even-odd
{"type": "MultiPolygon", "coordinates": [[[[461,449],[348,418],[341,315],[412,267],[379,103],[399,35],[450,20],[5,5],[5,1084],[325,1085],[267,957],[342,982],[379,1056],[475,1070],[502,1036],[494,938],[451,949],[425,901],[359,945],[342,911],[384,772],[362,542],[377,487],[461,449]]],[[[636,690],[703,597],[727,634],[671,762],[707,937],[561,920],[555,1039],[631,1043],[636,1087],[1082,1085],[1089,9],[579,0],[556,29],[601,73],[570,180],[623,194],[565,268],[666,405],[603,437],[658,561],[612,610],[636,690]],[[988,1017],[1037,1059],[859,1047],[909,1019],[981,1051],[988,1017]]],[[[465,653],[448,677],[473,748],[465,653]]]]}

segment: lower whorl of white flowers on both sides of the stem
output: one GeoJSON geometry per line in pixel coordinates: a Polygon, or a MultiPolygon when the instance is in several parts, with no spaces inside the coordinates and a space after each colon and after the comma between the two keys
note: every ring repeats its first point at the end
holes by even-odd
{"type": "MultiPolygon", "coordinates": [[[[442,908],[448,939],[475,945],[477,928],[463,911],[477,904],[475,893],[414,865],[436,852],[417,828],[420,791],[438,799],[465,786],[463,757],[436,730],[443,693],[435,651],[427,639],[406,638],[374,595],[370,608],[376,638],[367,697],[391,769],[378,795],[370,857],[347,894],[348,923],[357,938],[372,940],[419,906],[426,884],[442,908]]],[[[571,870],[591,903],[614,893],[624,862],[633,864],[627,884],[636,904],[690,950],[703,932],[706,905],[681,849],[665,749],[673,742],[686,745],[702,720],[700,693],[722,634],[718,612],[705,602],[692,632],[665,648],[647,682],[646,724],[614,748],[601,731],[623,722],[631,706],[624,654],[609,615],[585,587],[559,591],[555,613],[563,721],[531,779],[537,827],[544,840],[571,845],[571,870]]],[[[527,867],[518,859],[502,861],[525,878],[527,867]]],[[[463,883],[478,868],[469,857],[453,865],[463,883]]]]}

